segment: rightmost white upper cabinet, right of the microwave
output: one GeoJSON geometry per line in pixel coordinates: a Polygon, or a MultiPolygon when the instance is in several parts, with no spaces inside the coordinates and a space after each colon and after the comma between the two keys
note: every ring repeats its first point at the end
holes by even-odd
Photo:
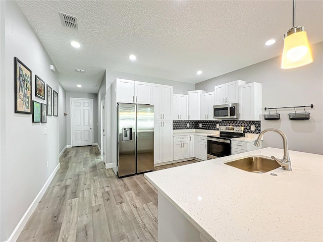
{"type": "Polygon", "coordinates": [[[261,83],[239,86],[239,120],[260,120],[261,83]]]}

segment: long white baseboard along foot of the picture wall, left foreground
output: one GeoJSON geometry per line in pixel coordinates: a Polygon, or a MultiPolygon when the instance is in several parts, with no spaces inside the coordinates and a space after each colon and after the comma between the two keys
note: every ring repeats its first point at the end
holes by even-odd
{"type": "Polygon", "coordinates": [[[44,186],[41,188],[40,192],[35,197],[34,201],[32,201],[32,203],[30,204],[30,206],[27,209],[27,211],[25,212],[24,216],[22,216],[22,218],[20,219],[16,228],[14,229],[14,231],[12,232],[10,237],[8,238],[8,240],[7,240],[8,242],[15,242],[18,239],[18,237],[19,237],[21,231],[23,230],[23,228],[25,227],[28,219],[30,218],[33,211],[35,211],[37,204],[39,203],[42,196],[45,194],[47,188],[49,187],[49,184],[51,183],[52,179],[54,178],[56,172],[59,170],[60,167],[61,167],[61,163],[59,162],[58,165],[53,170],[53,172],[51,172],[50,176],[46,180],[46,182],[45,182],[44,186]]]}

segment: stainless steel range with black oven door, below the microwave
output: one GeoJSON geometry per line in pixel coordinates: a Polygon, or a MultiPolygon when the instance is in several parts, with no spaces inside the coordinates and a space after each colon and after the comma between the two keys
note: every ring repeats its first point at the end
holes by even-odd
{"type": "Polygon", "coordinates": [[[243,127],[220,126],[220,135],[207,136],[207,159],[231,155],[231,139],[244,137],[243,127]]]}

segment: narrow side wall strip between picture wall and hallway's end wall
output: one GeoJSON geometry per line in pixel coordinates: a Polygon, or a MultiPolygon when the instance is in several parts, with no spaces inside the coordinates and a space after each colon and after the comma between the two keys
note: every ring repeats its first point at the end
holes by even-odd
{"type": "Polygon", "coordinates": [[[66,91],[61,84],[59,84],[59,123],[60,123],[60,153],[66,147],[66,120],[64,116],[66,112],[66,91]]]}

